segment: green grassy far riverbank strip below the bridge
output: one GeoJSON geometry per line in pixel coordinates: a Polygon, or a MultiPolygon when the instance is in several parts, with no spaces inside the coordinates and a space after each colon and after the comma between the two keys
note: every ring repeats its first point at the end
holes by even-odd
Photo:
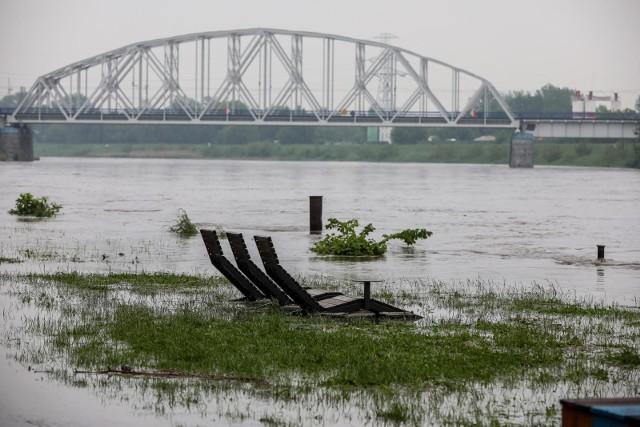
{"type": "MultiPolygon", "coordinates": [[[[632,167],[640,147],[631,142],[558,143],[534,145],[534,163],[553,166],[632,167]]],[[[398,144],[39,144],[36,157],[118,157],[251,159],[289,161],[350,161],[389,163],[508,164],[505,142],[437,142],[398,144]]]]}

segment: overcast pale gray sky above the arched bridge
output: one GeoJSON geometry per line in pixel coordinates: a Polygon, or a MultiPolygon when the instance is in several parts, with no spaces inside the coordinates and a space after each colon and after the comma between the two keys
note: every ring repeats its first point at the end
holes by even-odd
{"type": "Polygon", "coordinates": [[[0,95],[144,40],[240,28],[392,44],[467,69],[498,90],[547,83],[640,95],[640,0],[0,0],[0,95]]]}

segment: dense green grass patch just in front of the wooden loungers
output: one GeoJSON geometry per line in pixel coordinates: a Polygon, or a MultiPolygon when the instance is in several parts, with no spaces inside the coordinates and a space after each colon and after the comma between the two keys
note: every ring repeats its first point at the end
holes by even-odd
{"type": "MultiPolygon", "coordinates": [[[[87,342],[75,348],[75,362],[106,366],[126,360],[160,370],[260,379],[300,375],[314,385],[338,388],[437,384],[455,389],[467,381],[509,380],[525,367],[554,368],[567,345],[545,331],[518,325],[486,323],[468,331],[438,327],[424,333],[397,323],[335,327],[334,322],[262,313],[225,321],[121,306],[104,332],[110,341],[126,344],[126,350],[113,355],[116,360],[103,359],[105,353],[95,354],[94,343],[87,342]]],[[[90,334],[101,336],[103,331],[95,329],[90,334]]]]}

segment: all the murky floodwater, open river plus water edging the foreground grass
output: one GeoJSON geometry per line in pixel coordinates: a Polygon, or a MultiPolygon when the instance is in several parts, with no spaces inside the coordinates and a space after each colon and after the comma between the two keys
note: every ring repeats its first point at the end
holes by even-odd
{"type": "MultiPolygon", "coordinates": [[[[442,282],[443,286],[468,281],[475,286],[479,281],[505,288],[541,284],[565,294],[630,307],[637,307],[640,297],[637,171],[43,159],[33,164],[3,165],[0,178],[0,401],[6,402],[0,407],[2,425],[376,422],[375,408],[380,402],[371,396],[343,401],[331,390],[322,390],[299,405],[265,398],[243,385],[232,390],[205,386],[202,394],[194,396],[198,387],[180,382],[176,387],[183,400],[172,403],[170,394],[158,393],[159,388],[171,388],[171,382],[111,377],[105,384],[101,376],[74,377],[75,366],[47,365],[48,360],[61,363],[64,358],[43,359],[38,353],[42,350],[36,351],[42,348],[41,337],[22,328],[24,322],[51,319],[58,312],[47,311],[48,290],[37,304],[32,301],[41,294],[33,290],[28,291],[32,300],[23,300],[26,294],[20,292],[27,292],[24,287],[32,285],[18,275],[58,271],[217,275],[198,237],[183,239],[168,231],[178,209],[184,209],[202,227],[240,231],[249,237],[271,235],[282,264],[295,275],[338,281],[364,275],[382,278],[383,288],[377,291],[390,295],[415,293],[416,281],[442,282]],[[61,215],[37,221],[8,215],[22,192],[48,196],[62,204],[61,215]],[[309,234],[308,197],[319,194],[324,196],[325,219],[371,222],[377,236],[414,227],[425,227],[434,235],[413,248],[393,243],[384,257],[364,262],[316,256],[309,251],[319,237],[309,234]],[[596,259],[598,244],[606,245],[603,261],[596,259]],[[31,348],[33,352],[26,351],[31,348]],[[23,359],[25,355],[33,359],[23,359]],[[55,373],[34,372],[33,368],[55,373]]],[[[255,248],[250,246],[257,259],[255,248]]],[[[109,295],[140,302],[125,291],[109,295]]],[[[233,289],[228,292],[232,294],[233,289]]],[[[173,304],[169,296],[156,303],[173,304]]],[[[422,314],[434,322],[440,313],[432,303],[425,304],[423,310],[422,314]]],[[[510,399],[530,399],[531,407],[518,406],[518,411],[539,411],[548,406],[553,412],[557,409],[549,402],[568,393],[588,393],[590,387],[601,394],[631,390],[627,385],[607,388],[593,381],[566,384],[548,394],[531,394],[527,391],[531,384],[505,387],[496,383],[470,390],[463,401],[475,405],[479,412],[491,407],[499,412],[509,408],[510,399]],[[505,389],[509,391],[505,393],[505,389]]],[[[460,396],[450,400],[456,398],[460,396]]],[[[402,399],[398,397],[400,408],[417,405],[427,415],[429,408],[440,407],[447,400],[431,400],[429,393],[402,399]]],[[[455,402],[448,405],[443,407],[450,411],[456,406],[455,402]]],[[[380,407],[382,413],[391,409],[380,407]]],[[[518,423],[515,415],[508,419],[518,423]]],[[[520,422],[526,424],[526,419],[520,422]]]]}

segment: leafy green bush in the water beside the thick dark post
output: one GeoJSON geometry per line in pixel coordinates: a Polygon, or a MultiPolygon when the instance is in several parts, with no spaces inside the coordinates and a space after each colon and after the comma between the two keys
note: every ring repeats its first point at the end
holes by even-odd
{"type": "Polygon", "coordinates": [[[311,250],[323,255],[384,255],[387,251],[387,241],[391,239],[399,239],[407,245],[413,245],[418,239],[426,239],[432,234],[431,231],[424,228],[407,229],[399,233],[385,234],[382,236],[383,239],[377,242],[367,237],[375,231],[373,225],[367,224],[359,233],[356,233],[358,226],[357,219],[340,221],[336,218],[329,218],[325,227],[328,230],[337,230],[338,234],[328,234],[324,239],[316,242],[311,250]]]}

